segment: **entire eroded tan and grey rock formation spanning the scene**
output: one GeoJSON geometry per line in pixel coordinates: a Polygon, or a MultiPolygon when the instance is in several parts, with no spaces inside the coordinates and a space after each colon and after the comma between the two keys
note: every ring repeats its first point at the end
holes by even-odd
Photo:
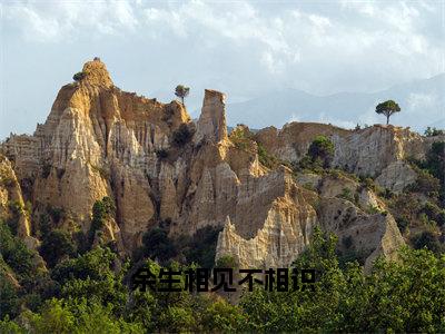
{"type": "MultiPolygon", "coordinates": [[[[32,203],[33,216],[60,208],[60,226],[87,233],[95,202],[108,196],[116,217],[106,222],[102,238],[116,242],[121,254],[140,246],[142,234],[160,222],[168,223],[171,236],[218,226],[216,257],[234,255],[241,267],[289,265],[317,225],[352,236],[352,247],[365,252],[367,263],[378,254],[393,256],[403,244],[389,215],[366,214],[367,207],[384,210],[374,193],[354,180],[269,169],[259,161],[257,143],[298,161],[315,136],[326,135],[335,143],[336,166],[403,189],[415,176],[402,159],[422,157],[425,138],[390,126],[349,131],[290,124],[263,129],[239,145],[227,134],[221,92],[205,91],[195,125],[177,101],[160,104],[115,87],[99,60],[82,71],[83,79],[60,89],[33,136],[13,135],[1,146],[12,165],[7,158],[1,164],[13,173],[19,195],[32,203]],[[344,188],[357,194],[358,206],[336,198],[344,188]]],[[[16,196],[2,189],[2,203],[16,196]]],[[[31,236],[36,222],[23,219],[21,233],[31,236]]]]}

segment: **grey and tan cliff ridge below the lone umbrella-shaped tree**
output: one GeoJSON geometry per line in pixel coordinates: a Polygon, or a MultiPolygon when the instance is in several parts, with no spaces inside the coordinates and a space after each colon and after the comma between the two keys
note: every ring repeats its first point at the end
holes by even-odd
{"type": "Polygon", "coordinates": [[[288,161],[299,161],[316,136],[324,135],[335,145],[333,165],[362,176],[376,177],[377,184],[400,191],[415,181],[406,158],[425,158],[434,140],[407,128],[375,125],[359,130],[345,130],[323,124],[290,122],[278,130],[269,127],[256,138],[270,153],[288,161]]]}

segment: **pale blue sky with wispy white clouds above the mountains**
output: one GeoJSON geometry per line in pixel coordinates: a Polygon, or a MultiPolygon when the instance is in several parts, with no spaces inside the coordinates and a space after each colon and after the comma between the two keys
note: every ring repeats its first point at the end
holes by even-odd
{"type": "Polygon", "coordinates": [[[204,88],[243,101],[279,89],[372,92],[445,71],[438,1],[3,1],[1,125],[32,132],[98,56],[147,97],[204,88]]]}

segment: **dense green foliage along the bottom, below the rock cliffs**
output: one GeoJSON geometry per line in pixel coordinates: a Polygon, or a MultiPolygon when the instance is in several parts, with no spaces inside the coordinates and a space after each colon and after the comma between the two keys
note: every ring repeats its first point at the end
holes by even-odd
{"type": "MultiPolygon", "coordinates": [[[[31,274],[29,250],[0,226],[2,275],[31,274]],[[23,259],[11,258],[11,253],[23,259]]],[[[160,240],[166,242],[165,236],[160,240]]],[[[128,278],[137,267],[159,273],[160,266],[147,258],[122,262],[98,246],[50,269],[47,285],[59,288],[38,289],[34,306],[31,291],[2,279],[0,332],[26,332],[23,324],[33,333],[445,331],[445,255],[403,248],[397,262],[378,259],[365,274],[356,262],[339,265],[336,243],[335,236],[316,229],[309,248],[293,264],[317,269],[315,292],[265,292],[258,286],[238,305],[214,293],[131,292],[128,278]]],[[[218,265],[236,266],[229,257],[218,265]]],[[[176,262],[169,266],[194,267],[176,262]]]]}

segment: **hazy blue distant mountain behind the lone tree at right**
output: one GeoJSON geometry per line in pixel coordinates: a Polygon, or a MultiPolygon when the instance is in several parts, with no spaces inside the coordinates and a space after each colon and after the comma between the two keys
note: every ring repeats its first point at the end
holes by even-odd
{"type": "Polygon", "coordinates": [[[372,94],[315,96],[297,89],[284,89],[229,104],[227,116],[230,126],[241,122],[254,128],[281,127],[298,120],[352,128],[357,124],[384,122],[385,118],[375,112],[375,106],[387,99],[397,101],[402,108],[402,112],[392,117],[392,124],[417,131],[427,126],[445,128],[445,73],[372,94]]]}

